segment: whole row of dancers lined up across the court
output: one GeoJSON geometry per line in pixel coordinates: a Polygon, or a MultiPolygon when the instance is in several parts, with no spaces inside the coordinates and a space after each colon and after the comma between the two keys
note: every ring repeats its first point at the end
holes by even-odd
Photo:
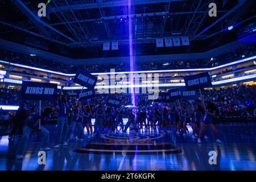
{"type": "MultiPolygon", "coordinates": [[[[208,139],[205,135],[205,124],[213,131],[217,143],[221,143],[218,138],[216,127],[213,125],[213,117],[218,113],[218,109],[210,102],[199,104],[196,109],[191,107],[184,108],[179,103],[179,107],[166,107],[154,105],[148,107],[137,107],[127,109],[125,106],[119,108],[108,107],[106,105],[97,105],[97,107],[82,105],[81,102],[69,103],[67,96],[62,96],[63,86],[59,92],[57,130],[53,147],[67,146],[75,127],[77,134],[75,140],[83,140],[84,127],[87,130],[87,137],[97,137],[97,133],[102,137],[107,129],[108,133],[122,133],[126,135],[127,129],[133,125],[135,133],[176,133],[184,137],[189,135],[187,124],[192,127],[193,139],[197,139],[197,143],[201,143],[201,139],[208,139]],[[202,106],[203,105],[203,106],[202,106]],[[68,117],[72,115],[71,124],[69,125],[68,117]],[[92,127],[92,119],[95,119],[94,130],[92,127]],[[126,125],[123,125],[123,118],[127,118],[126,125]],[[144,125],[144,130],[143,130],[144,125]],[[199,134],[197,134],[197,126],[200,125],[199,134]],[[119,129],[118,129],[119,126],[119,129]]],[[[40,150],[51,150],[49,147],[49,131],[40,126],[40,122],[46,121],[49,114],[54,111],[52,107],[46,107],[41,113],[35,113],[30,119],[22,121],[23,133],[19,139],[18,149],[16,151],[16,159],[23,159],[28,144],[30,133],[35,131],[42,135],[42,146],[40,150]],[[40,122],[39,122],[40,121],[40,122]]],[[[17,113],[18,114],[18,113],[17,113]]],[[[19,114],[18,114],[19,115],[19,114]]],[[[19,121],[20,125],[20,121],[19,121]]],[[[20,126],[19,126],[20,127],[20,126]]]]}

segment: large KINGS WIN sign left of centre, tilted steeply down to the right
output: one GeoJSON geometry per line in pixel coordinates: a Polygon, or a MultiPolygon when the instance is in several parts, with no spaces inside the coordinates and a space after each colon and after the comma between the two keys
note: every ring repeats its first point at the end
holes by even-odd
{"type": "Polygon", "coordinates": [[[73,82],[85,86],[86,88],[94,89],[97,82],[97,77],[85,72],[82,69],[77,69],[76,76],[73,82]]]}

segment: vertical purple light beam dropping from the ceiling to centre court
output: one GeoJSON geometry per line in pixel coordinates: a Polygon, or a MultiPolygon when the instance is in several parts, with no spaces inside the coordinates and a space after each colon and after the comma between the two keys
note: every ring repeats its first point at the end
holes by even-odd
{"type": "MultiPolygon", "coordinates": [[[[134,71],[134,57],[133,57],[133,23],[131,21],[131,0],[128,1],[128,11],[129,11],[129,48],[130,48],[130,71],[134,71]]],[[[131,84],[134,85],[134,76],[130,74],[131,84]]],[[[133,106],[135,106],[135,88],[131,88],[131,100],[133,106]]]]}

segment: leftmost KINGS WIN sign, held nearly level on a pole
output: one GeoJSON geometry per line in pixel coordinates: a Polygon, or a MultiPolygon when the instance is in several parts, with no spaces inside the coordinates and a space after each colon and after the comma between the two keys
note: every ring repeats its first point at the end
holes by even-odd
{"type": "Polygon", "coordinates": [[[22,81],[20,100],[57,100],[57,84],[22,81]]]}

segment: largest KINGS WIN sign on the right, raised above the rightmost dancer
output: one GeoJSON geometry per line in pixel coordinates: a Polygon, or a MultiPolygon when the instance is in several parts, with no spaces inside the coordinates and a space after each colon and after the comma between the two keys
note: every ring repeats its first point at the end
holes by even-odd
{"type": "Polygon", "coordinates": [[[186,88],[189,90],[207,88],[212,86],[212,80],[208,72],[184,77],[186,88]]]}

